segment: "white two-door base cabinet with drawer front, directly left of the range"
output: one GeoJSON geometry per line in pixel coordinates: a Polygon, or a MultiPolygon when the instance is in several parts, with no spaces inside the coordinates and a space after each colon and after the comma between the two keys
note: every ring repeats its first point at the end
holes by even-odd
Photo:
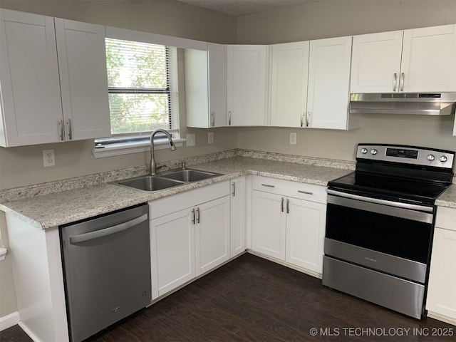
{"type": "Polygon", "coordinates": [[[321,274],[326,187],[254,177],[252,249],[321,274]]]}

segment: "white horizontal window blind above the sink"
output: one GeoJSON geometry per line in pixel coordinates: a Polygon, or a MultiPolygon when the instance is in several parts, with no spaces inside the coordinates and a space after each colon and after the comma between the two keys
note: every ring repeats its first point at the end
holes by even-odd
{"type": "Polygon", "coordinates": [[[105,39],[111,133],[179,128],[177,49],[105,39]]]}

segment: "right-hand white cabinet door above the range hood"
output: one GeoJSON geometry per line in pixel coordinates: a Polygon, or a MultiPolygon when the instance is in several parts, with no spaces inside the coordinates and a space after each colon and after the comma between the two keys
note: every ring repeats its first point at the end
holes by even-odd
{"type": "Polygon", "coordinates": [[[456,25],[404,31],[404,92],[456,91],[456,25]]]}

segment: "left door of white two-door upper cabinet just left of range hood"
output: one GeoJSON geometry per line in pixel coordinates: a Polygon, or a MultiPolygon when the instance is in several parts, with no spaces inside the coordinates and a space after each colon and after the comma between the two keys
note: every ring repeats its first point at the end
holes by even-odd
{"type": "Polygon", "coordinates": [[[304,125],[308,71],[309,41],[272,46],[271,126],[304,125]]]}

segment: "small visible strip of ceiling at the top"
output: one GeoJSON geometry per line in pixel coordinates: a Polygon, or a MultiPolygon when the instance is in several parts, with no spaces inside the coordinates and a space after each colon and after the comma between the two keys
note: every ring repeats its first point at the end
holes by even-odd
{"type": "Polygon", "coordinates": [[[272,9],[294,7],[320,0],[177,0],[194,6],[212,9],[213,11],[229,14],[230,16],[244,16],[272,9]]]}

